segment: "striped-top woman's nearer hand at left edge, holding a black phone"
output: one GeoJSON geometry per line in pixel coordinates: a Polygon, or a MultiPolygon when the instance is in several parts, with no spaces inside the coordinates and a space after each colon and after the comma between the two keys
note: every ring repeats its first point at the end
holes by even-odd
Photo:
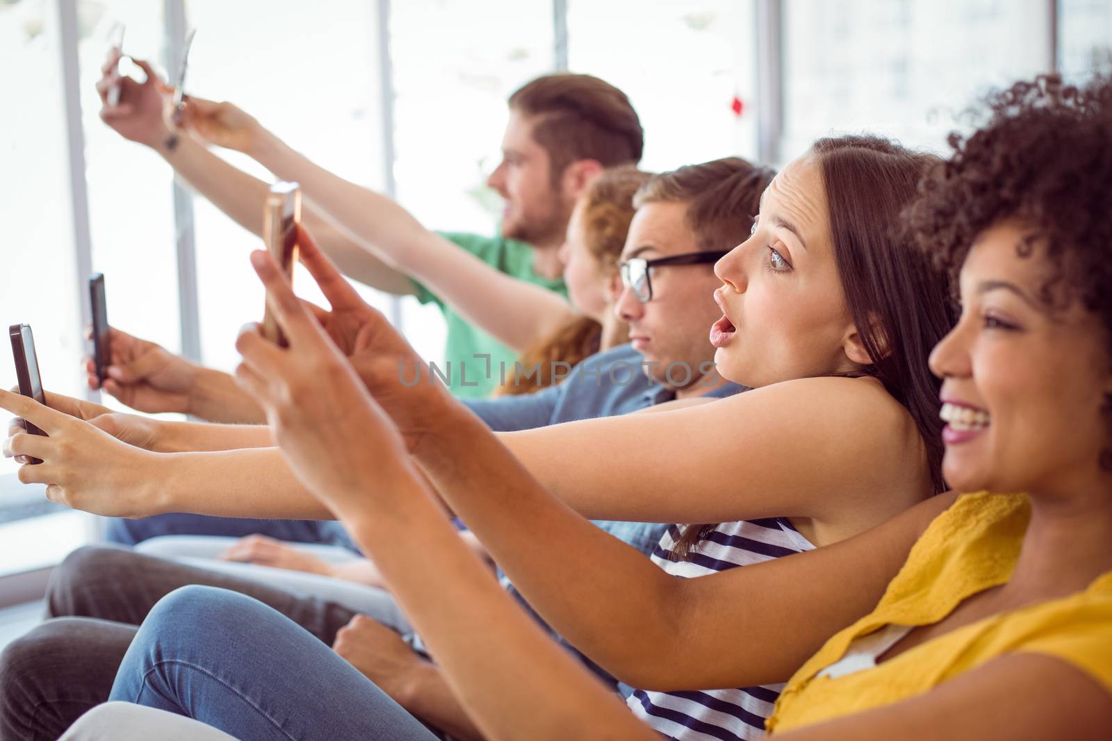
{"type": "MultiPolygon", "coordinates": [[[[58,394],[48,397],[58,399],[58,394]]],[[[49,435],[16,429],[4,440],[4,457],[42,461],[21,465],[20,481],[44,483],[50,501],[93,514],[155,513],[149,509],[151,498],[146,489],[158,477],[157,453],[129,445],[85,420],[11,391],[0,391],[0,409],[30,421],[49,435]]]]}

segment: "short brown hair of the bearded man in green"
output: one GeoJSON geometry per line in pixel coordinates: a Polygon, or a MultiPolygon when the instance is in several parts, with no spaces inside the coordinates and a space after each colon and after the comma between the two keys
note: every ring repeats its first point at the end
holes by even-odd
{"type": "Polygon", "coordinates": [[[533,118],[533,139],[548,152],[552,179],[576,160],[604,168],[636,164],[645,132],[626,94],[596,77],[567,72],[527,82],[509,108],[533,118]]]}

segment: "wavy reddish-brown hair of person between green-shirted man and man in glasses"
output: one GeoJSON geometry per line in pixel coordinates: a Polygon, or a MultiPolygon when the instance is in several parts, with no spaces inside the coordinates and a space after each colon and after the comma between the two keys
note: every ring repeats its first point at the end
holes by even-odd
{"type": "MultiPolygon", "coordinates": [[[[579,197],[587,250],[598,261],[604,276],[617,272],[618,257],[625,247],[629,222],[636,211],[634,194],[652,177],[633,166],[614,168],[592,180],[579,197]]],[[[629,339],[628,328],[624,324],[615,328],[610,334],[613,337],[604,338],[603,326],[590,317],[570,320],[526,350],[518,359],[526,370],[539,363],[539,373],[526,375],[515,369],[514,378],[499,387],[496,395],[533,393],[553,385],[554,363],[564,362],[574,367],[584,358],[629,339]]]]}

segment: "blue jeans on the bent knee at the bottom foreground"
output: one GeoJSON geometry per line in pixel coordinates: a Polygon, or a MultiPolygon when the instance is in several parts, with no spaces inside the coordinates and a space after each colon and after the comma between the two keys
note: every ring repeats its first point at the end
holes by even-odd
{"type": "Polygon", "coordinates": [[[297,623],[249,597],[182,587],[143,620],[111,700],[187,715],[251,741],[437,741],[297,623]]]}

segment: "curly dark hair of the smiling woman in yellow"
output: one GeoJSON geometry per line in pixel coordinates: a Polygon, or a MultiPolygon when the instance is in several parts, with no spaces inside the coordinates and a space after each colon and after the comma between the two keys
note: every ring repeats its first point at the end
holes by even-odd
{"type": "MultiPolygon", "coordinates": [[[[1039,299],[1051,311],[1081,301],[1100,318],[1112,358],[1112,78],[1085,87],[1056,74],[1016,82],[985,99],[971,136],[951,133],[954,153],[920,186],[909,210],[914,241],[957,273],[977,237],[1003,219],[1030,224],[1049,269],[1039,299]]],[[[1112,433],[1112,397],[1103,411],[1112,433]]],[[[1110,434],[1112,438],[1112,434],[1110,434]]],[[[1101,453],[1112,470],[1112,449],[1101,453]]]]}

